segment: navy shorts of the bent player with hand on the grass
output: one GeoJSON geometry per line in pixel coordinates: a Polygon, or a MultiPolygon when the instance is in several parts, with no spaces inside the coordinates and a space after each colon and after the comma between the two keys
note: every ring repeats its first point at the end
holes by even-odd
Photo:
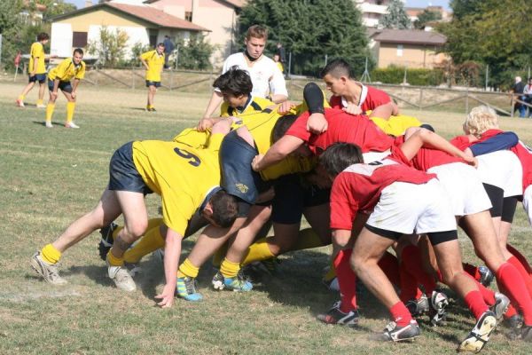
{"type": "Polygon", "coordinates": [[[133,142],[118,148],[109,162],[109,185],[111,191],[153,193],[145,184],[133,162],[133,142]]]}

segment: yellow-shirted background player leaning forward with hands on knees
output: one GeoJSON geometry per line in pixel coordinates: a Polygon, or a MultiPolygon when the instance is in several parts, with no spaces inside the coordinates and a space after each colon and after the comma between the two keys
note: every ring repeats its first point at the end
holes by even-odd
{"type": "Polygon", "coordinates": [[[85,62],[83,62],[83,50],[76,48],[72,58],[66,58],[59,66],[51,69],[48,73],[48,90],[50,91],[50,100],[46,106],[47,128],[53,128],[51,116],[55,109],[55,101],[58,99],[58,90],[63,92],[66,100],[66,128],[80,128],[72,119],[74,117],[75,100],[77,98],[77,87],[80,81],[85,77],[85,62]],[[70,83],[74,79],[74,83],[70,83]]]}

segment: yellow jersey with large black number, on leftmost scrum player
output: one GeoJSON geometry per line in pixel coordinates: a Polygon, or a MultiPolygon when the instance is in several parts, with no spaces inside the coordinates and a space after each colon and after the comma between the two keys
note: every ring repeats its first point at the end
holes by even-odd
{"type": "Polygon", "coordinates": [[[212,135],[205,149],[160,140],[133,143],[138,173],[154,193],[160,194],[164,224],[181,235],[207,193],[220,185],[218,151],[222,139],[223,134],[212,135]]]}

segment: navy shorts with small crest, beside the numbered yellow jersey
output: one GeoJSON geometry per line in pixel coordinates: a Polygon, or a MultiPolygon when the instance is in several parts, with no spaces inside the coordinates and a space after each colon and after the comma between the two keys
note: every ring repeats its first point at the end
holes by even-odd
{"type": "Polygon", "coordinates": [[[251,162],[257,150],[241,138],[236,130],[223,138],[220,147],[222,164],[222,186],[228,193],[253,205],[259,193],[266,191],[269,184],[251,169],[251,162]]]}

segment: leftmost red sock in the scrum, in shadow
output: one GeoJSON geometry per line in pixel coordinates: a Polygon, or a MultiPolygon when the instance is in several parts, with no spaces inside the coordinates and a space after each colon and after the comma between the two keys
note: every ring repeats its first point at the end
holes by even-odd
{"type": "Polygon", "coordinates": [[[356,310],[356,274],[351,270],[349,259],[353,249],[340,250],[334,258],[334,270],[340,287],[340,311],[347,313],[356,310]]]}

